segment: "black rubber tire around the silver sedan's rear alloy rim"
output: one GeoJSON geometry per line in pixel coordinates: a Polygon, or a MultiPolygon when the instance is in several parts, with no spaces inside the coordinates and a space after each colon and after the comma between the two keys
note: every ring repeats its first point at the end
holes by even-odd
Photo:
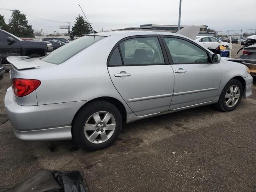
{"type": "Polygon", "coordinates": [[[78,112],[72,125],[72,136],[80,147],[90,151],[95,151],[95,150],[100,150],[110,146],[120,134],[121,129],[122,129],[122,116],[119,110],[116,108],[116,106],[114,106],[109,102],[98,100],[98,101],[89,103],[88,105],[84,106],[82,110],[78,112]],[[112,136],[110,136],[108,140],[101,143],[92,143],[85,136],[84,126],[87,120],[93,114],[101,111],[112,114],[112,116],[114,117],[116,126],[112,136]]]}

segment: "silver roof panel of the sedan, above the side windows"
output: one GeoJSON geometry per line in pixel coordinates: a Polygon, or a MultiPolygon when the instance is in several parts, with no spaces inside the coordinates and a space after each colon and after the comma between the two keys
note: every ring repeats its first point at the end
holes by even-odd
{"type": "MultiPolygon", "coordinates": [[[[117,30],[117,31],[108,31],[108,32],[99,32],[95,34],[96,36],[112,36],[112,35],[121,35],[121,36],[136,36],[136,35],[172,35],[172,36],[180,36],[185,37],[180,34],[164,31],[164,30],[117,30]]],[[[188,38],[188,37],[186,37],[188,38]]]]}

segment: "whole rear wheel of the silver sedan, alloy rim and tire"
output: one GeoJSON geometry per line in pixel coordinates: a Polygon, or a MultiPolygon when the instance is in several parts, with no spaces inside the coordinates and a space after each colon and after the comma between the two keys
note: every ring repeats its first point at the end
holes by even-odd
{"type": "Polygon", "coordinates": [[[110,146],[122,129],[122,117],[113,104],[95,101],[80,110],[72,125],[72,136],[82,148],[100,150],[110,146]]]}

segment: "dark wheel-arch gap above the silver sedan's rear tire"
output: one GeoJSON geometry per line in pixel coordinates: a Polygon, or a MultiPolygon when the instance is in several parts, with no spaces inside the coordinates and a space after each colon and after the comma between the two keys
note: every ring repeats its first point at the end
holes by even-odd
{"type": "Polygon", "coordinates": [[[126,109],[125,109],[124,105],[122,104],[122,102],[120,102],[118,99],[113,98],[113,97],[98,97],[98,98],[94,98],[94,99],[86,102],[86,104],[84,104],[83,106],[80,107],[80,109],[76,112],[76,114],[72,120],[72,125],[74,124],[74,120],[78,116],[79,112],[81,110],[83,110],[83,108],[85,108],[88,104],[90,104],[92,102],[96,102],[96,101],[106,101],[106,102],[109,102],[109,103],[113,104],[114,106],[116,106],[116,108],[118,108],[118,110],[122,116],[122,122],[126,122],[127,113],[126,113],[126,109]]]}

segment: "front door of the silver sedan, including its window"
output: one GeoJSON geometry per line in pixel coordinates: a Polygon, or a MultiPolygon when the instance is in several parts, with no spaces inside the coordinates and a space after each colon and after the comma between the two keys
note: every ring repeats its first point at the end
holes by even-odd
{"type": "Polygon", "coordinates": [[[206,50],[188,40],[164,37],[164,42],[174,70],[175,84],[170,110],[210,104],[220,86],[218,63],[211,63],[206,50]]]}

